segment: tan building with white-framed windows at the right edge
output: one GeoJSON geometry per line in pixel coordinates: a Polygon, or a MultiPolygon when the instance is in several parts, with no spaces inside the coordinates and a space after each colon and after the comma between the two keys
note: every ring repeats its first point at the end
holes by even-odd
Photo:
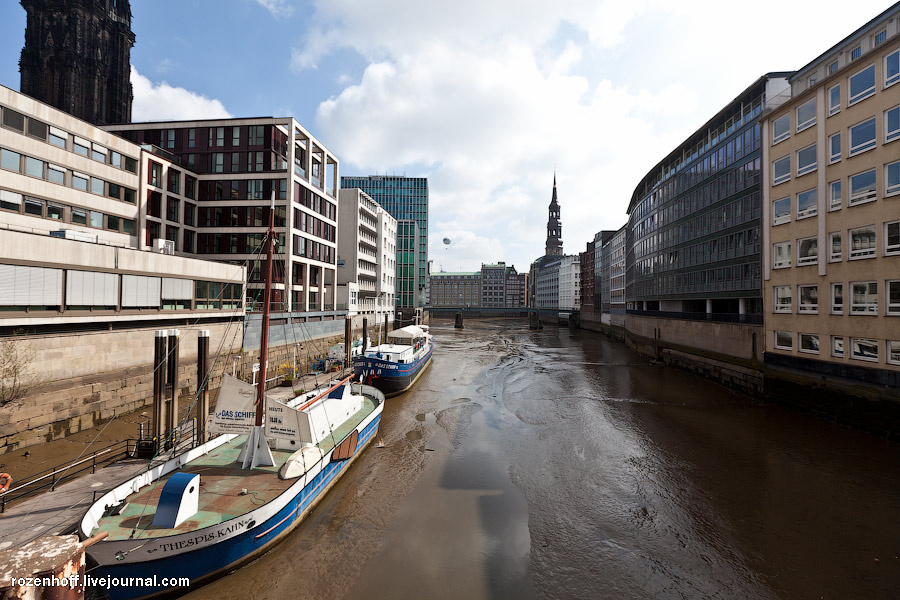
{"type": "Polygon", "coordinates": [[[900,382],[900,4],[761,119],[766,362],[900,382]]]}

